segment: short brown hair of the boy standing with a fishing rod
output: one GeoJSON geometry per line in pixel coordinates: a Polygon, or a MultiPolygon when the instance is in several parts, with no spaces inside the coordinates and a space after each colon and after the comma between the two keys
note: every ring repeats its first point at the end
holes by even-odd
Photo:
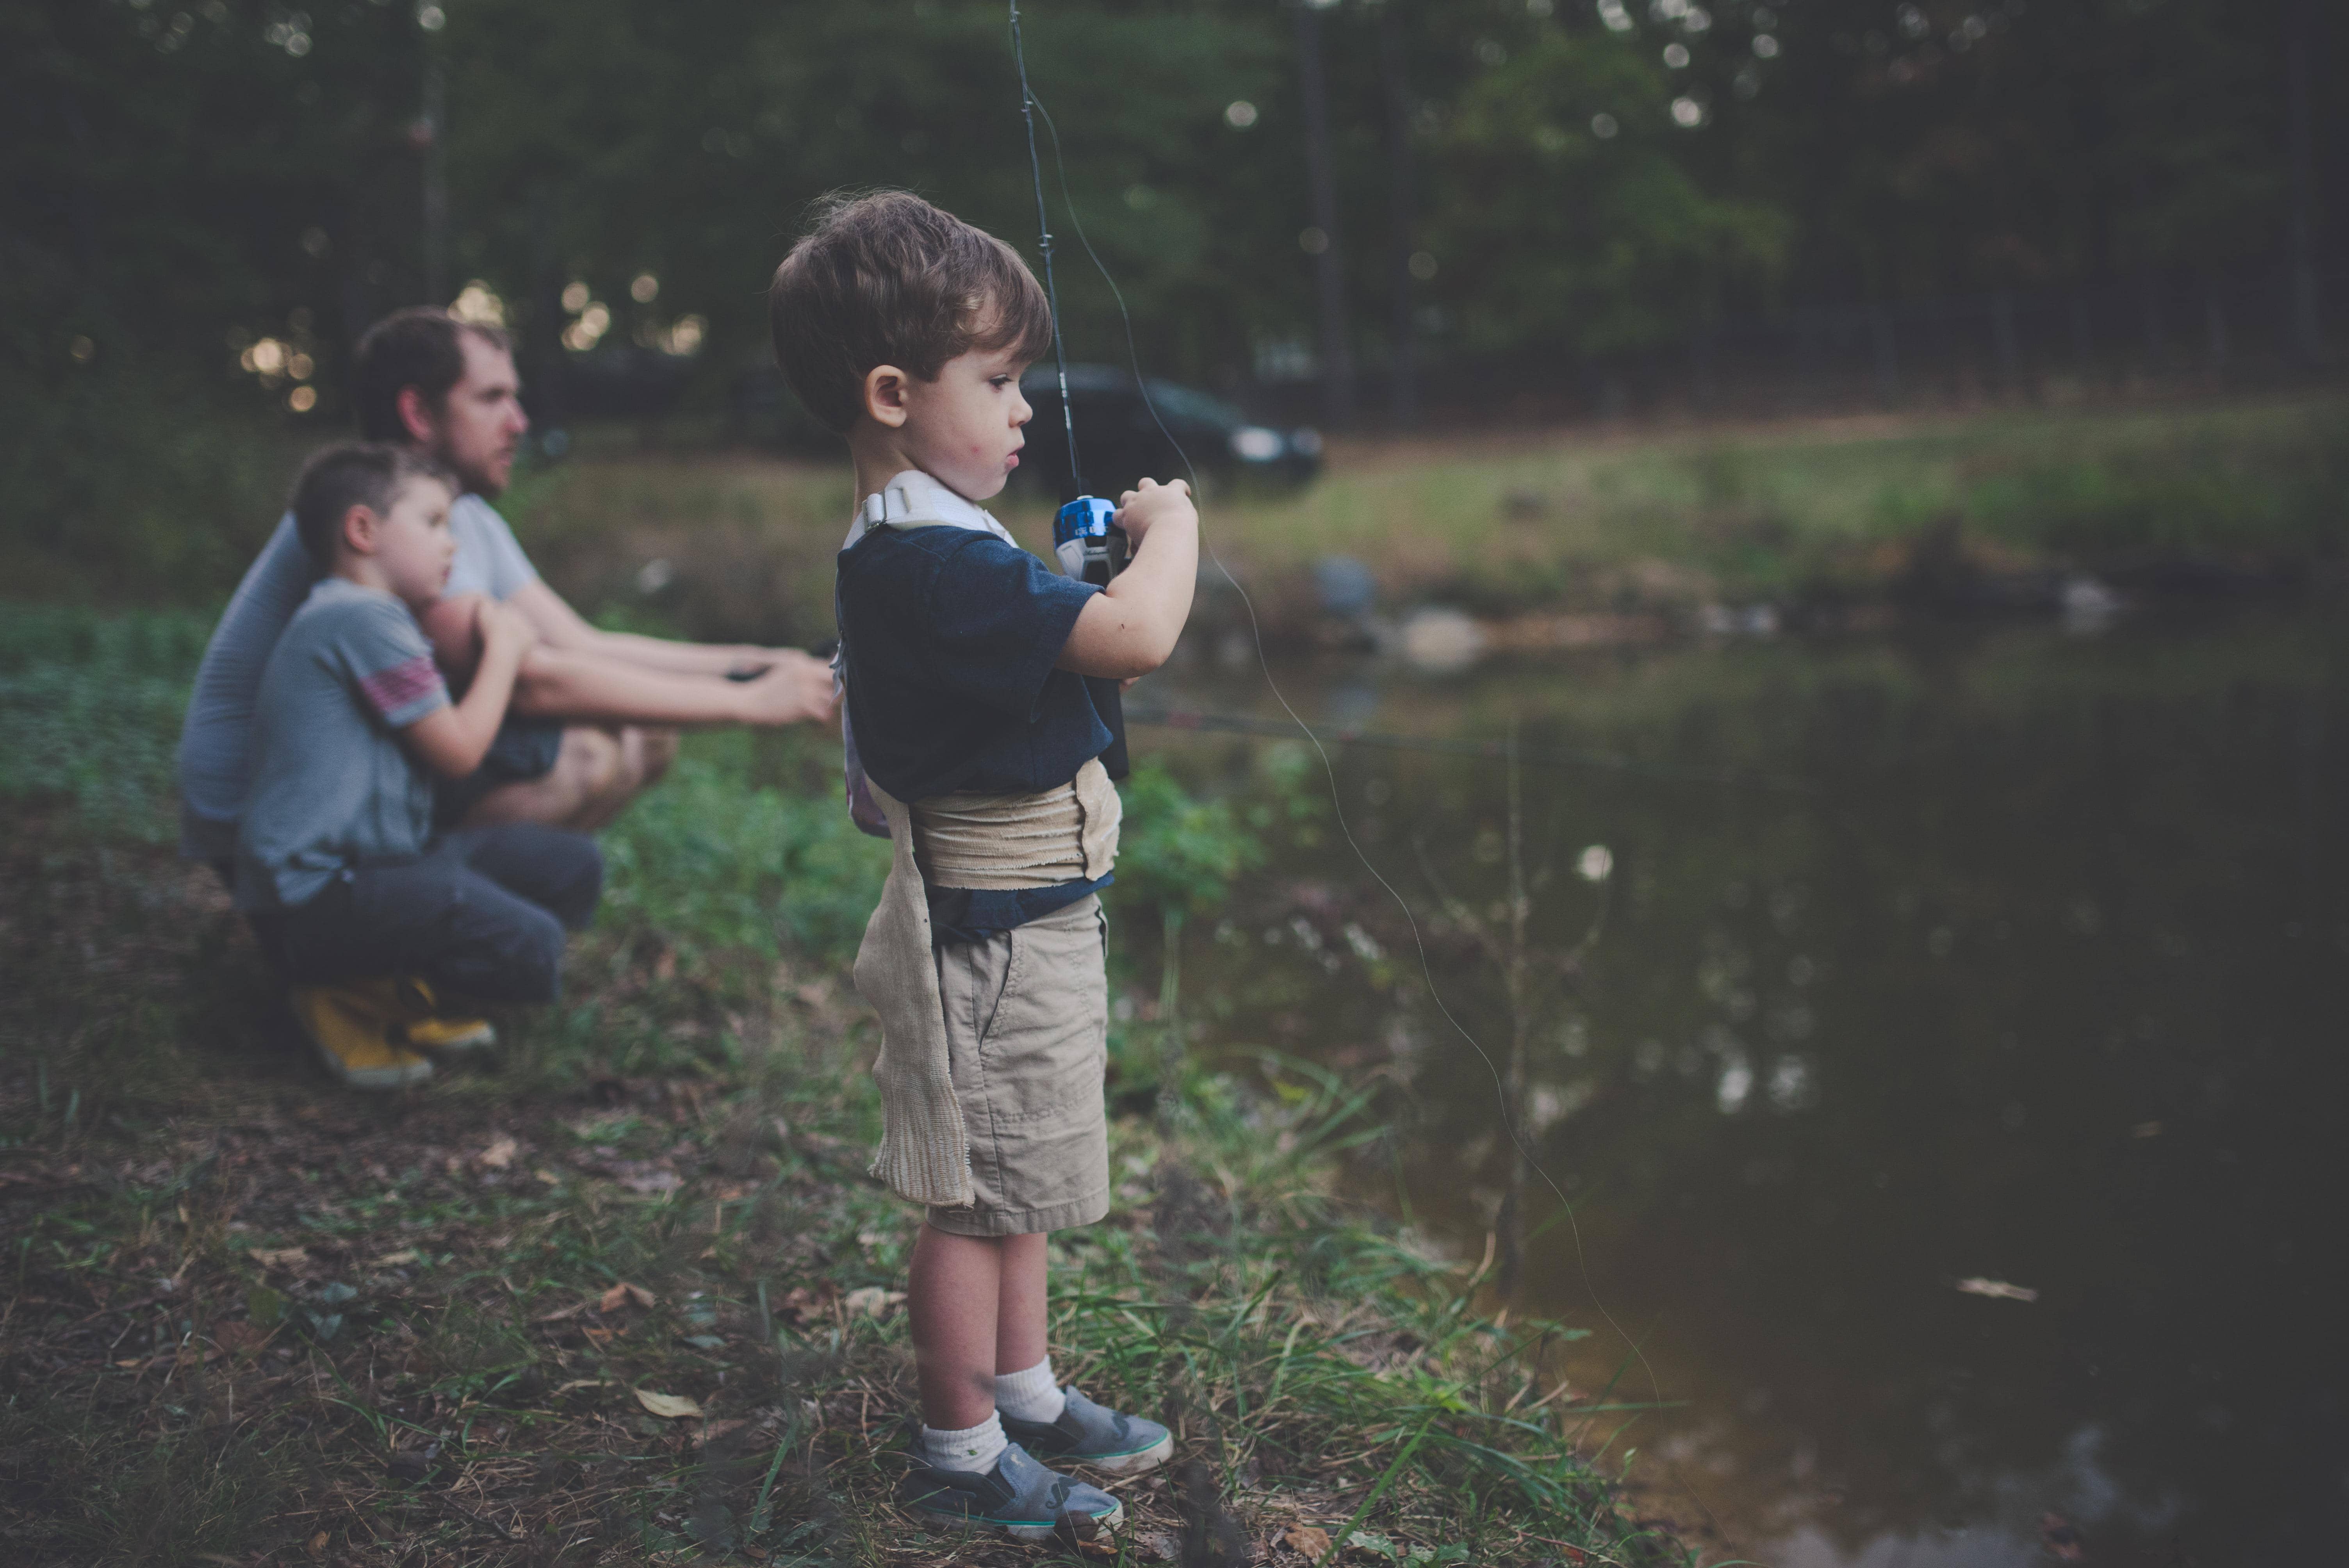
{"type": "Polygon", "coordinates": [[[775,364],[827,427],[864,411],[864,376],[935,380],[970,350],[1052,347],[1052,310],[1019,254],[909,190],[829,195],[766,296],[775,364]]]}

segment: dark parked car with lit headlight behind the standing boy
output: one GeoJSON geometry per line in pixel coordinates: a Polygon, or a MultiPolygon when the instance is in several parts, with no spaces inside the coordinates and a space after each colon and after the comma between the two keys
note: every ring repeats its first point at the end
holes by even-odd
{"type": "MultiPolygon", "coordinates": [[[[1036,411],[1019,472],[1029,484],[1071,500],[1076,479],[1069,474],[1069,437],[1059,423],[1059,376],[1052,364],[1029,369],[1019,378],[1019,394],[1036,411]]],[[[1069,408],[1076,413],[1076,455],[1085,469],[1085,488],[1095,495],[1116,498],[1139,479],[1182,479],[1182,455],[1167,434],[1207,484],[1240,477],[1306,484],[1320,472],[1320,432],[1254,425],[1224,399],[1156,376],[1137,385],[1128,371],[1106,364],[1071,364],[1069,408]],[[1144,385],[1149,404],[1142,401],[1144,385]],[[1151,406],[1165,420],[1165,432],[1151,418],[1151,406]]]]}

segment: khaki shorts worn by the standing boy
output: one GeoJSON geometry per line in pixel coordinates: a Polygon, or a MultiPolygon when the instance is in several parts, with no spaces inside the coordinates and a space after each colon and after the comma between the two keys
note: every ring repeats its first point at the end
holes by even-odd
{"type": "Polygon", "coordinates": [[[937,948],[947,1061],[970,1138],[970,1207],[930,1225],[1012,1237],[1109,1214],[1109,976],[1102,901],[937,948]]]}

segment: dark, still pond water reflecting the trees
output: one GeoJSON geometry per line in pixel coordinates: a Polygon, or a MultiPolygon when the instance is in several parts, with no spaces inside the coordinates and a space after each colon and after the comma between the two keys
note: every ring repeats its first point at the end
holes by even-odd
{"type": "MultiPolygon", "coordinates": [[[[2055,1561],[2051,1526],[2093,1563],[2342,1549],[2333,617],[1278,676],[1325,725],[1517,735],[1546,871],[1527,1120],[1576,1228],[1536,1176],[1515,1310],[1593,1331],[1560,1361],[1574,1397],[1672,1406],[1588,1427],[1637,1451],[1649,1514],[1792,1566],[2055,1561]]],[[[1132,704],[1280,718],[1252,660],[1207,655],[1132,704]]],[[[1283,749],[1137,742],[1259,793],[1283,749]]],[[[1499,1061],[1499,969],[1431,915],[1438,883],[1496,913],[1506,763],[1332,756],[1499,1061]]],[[[1393,1136],[1351,1181],[1475,1261],[1508,1178],[1496,1077],[1334,824],[1301,838],[1193,922],[1193,1049],[1384,1073],[1393,1136]]]]}

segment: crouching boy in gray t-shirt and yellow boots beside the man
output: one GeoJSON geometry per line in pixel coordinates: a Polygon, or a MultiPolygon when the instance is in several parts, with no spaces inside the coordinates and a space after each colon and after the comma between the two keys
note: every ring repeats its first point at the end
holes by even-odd
{"type": "Polygon", "coordinates": [[[402,446],[329,446],[303,465],[294,526],[331,566],[277,638],[254,711],[237,906],[327,1068],[364,1089],[430,1077],[406,1030],[432,1023],[430,988],[552,1000],[564,927],[587,922],[604,885],[578,833],[432,836],[435,775],[482,765],[531,643],[521,615],[482,601],[472,685],[449,699],[416,613],[449,582],[453,498],[449,474],[402,446]]]}

